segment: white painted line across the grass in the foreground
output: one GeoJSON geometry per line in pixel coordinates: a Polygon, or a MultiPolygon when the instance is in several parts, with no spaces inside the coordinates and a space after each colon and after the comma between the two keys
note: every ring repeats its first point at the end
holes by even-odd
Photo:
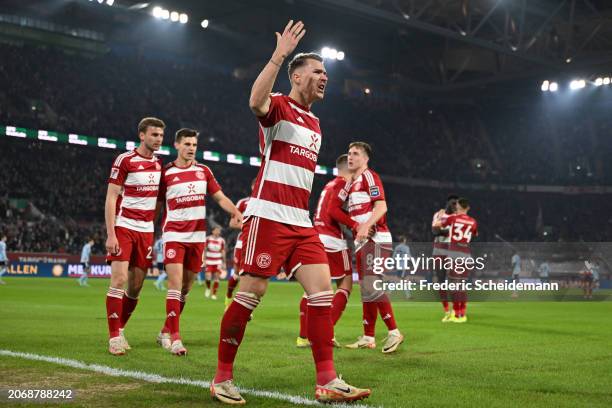
{"type": "MultiPolygon", "coordinates": [[[[113,368],[109,366],[103,366],[99,364],[87,364],[78,360],[71,360],[69,358],[63,357],[51,357],[51,356],[43,356],[39,354],[32,353],[23,353],[20,351],[11,351],[11,350],[0,350],[0,356],[7,357],[17,357],[23,358],[25,360],[33,360],[33,361],[44,361],[47,363],[58,364],[66,367],[77,368],[79,370],[87,370],[93,371],[100,374],[109,375],[111,377],[127,377],[133,378],[136,380],[141,380],[150,383],[166,383],[166,384],[179,384],[179,385],[192,385],[195,387],[200,387],[208,390],[210,388],[210,381],[200,381],[200,380],[192,380],[189,378],[171,378],[164,377],[159,374],[145,373],[143,371],[130,371],[130,370],[122,370],[120,368],[113,368]]],[[[265,391],[265,390],[255,390],[251,388],[241,388],[239,390],[243,394],[254,395],[257,397],[276,399],[281,401],[287,401],[295,405],[319,405],[323,406],[323,404],[304,397],[300,397],[297,395],[289,395],[283,394],[278,391],[265,391]]],[[[336,407],[351,407],[351,408],[370,408],[370,405],[363,404],[340,404],[334,405],[336,407]]]]}

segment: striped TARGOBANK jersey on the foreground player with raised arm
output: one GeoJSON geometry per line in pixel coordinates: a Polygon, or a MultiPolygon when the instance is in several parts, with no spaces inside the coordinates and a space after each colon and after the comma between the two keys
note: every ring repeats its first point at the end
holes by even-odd
{"type": "Polygon", "coordinates": [[[311,227],[308,200],[321,147],[319,119],[290,97],[272,94],[268,114],[258,120],[261,168],[244,215],[311,227]]]}

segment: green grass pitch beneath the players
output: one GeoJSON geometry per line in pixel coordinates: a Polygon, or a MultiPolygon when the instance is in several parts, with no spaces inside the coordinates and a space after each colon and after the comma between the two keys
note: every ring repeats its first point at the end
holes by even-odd
{"type": "MultiPolygon", "coordinates": [[[[222,296],[204,299],[194,286],[181,319],[189,354],[170,355],[155,343],[164,293],[145,282],[126,329],[128,355],[107,352],[104,297],[108,280],[81,288],[71,279],[8,278],[0,286],[0,349],[64,357],[165,377],[210,381],[216,366],[222,296]]],[[[220,293],[223,295],[223,287],[220,293]]],[[[314,398],[309,349],[297,349],[298,302],[293,283],[273,283],[247,327],[238,352],[239,386],[314,398]]],[[[336,327],[345,344],[362,332],[358,290],[336,327]]],[[[377,323],[376,350],[335,351],[339,373],[371,387],[374,406],[612,406],[611,302],[482,302],[468,304],[467,324],[442,324],[433,302],[394,303],[406,342],[380,352],[386,327],[377,323]]],[[[219,406],[207,390],[151,384],[0,356],[0,388],[77,390],[73,406],[219,406]]],[[[251,406],[289,403],[245,396],[251,406]]],[[[4,405],[4,404],[3,404],[4,405]]],[[[20,405],[23,406],[23,405],[20,405]]],[[[35,404],[32,406],[40,406],[35,404]]]]}

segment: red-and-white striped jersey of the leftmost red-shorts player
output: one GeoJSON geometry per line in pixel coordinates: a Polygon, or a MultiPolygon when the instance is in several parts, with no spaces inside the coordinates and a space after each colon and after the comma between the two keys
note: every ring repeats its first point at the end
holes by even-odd
{"type": "Polygon", "coordinates": [[[155,155],[144,157],[132,150],[117,156],[108,178],[109,183],[122,187],[115,226],[153,232],[161,170],[161,159],[155,155]]]}

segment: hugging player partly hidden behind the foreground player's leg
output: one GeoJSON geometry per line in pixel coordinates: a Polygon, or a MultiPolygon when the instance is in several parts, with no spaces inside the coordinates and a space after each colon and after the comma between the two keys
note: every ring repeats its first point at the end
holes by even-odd
{"type": "MultiPolygon", "coordinates": [[[[329,262],[329,270],[332,280],[336,282],[336,293],[332,299],[331,317],[334,325],[340,320],[342,312],[346,308],[351,290],[353,288],[353,268],[351,266],[352,255],[346,243],[340,224],[346,225],[351,230],[357,227],[357,223],[349,217],[342,206],[348,198],[351,186],[351,173],[348,171],[348,155],[343,154],[336,159],[338,176],[328,182],[317,205],[314,217],[314,226],[319,233],[319,238],[325,247],[325,253],[329,262]]],[[[308,307],[307,297],[304,295],[300,301],[300,335],[296,340],[298,347],[309,347],[308,341],[308,307]]],[[[334,345],[340,344],[333,339],[334,345]]]]}

